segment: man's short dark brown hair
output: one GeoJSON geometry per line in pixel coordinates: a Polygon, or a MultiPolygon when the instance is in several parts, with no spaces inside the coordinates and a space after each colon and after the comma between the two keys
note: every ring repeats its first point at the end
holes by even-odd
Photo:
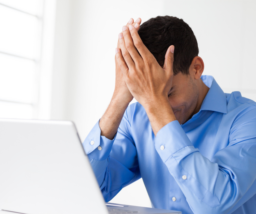
{"type": "Polygon", "coordinates": [[[138,33],[161,66],[164,64],[167,49],[174,45],[174,75],[179,72],[189,74],[190,64],[198,56],[199,49],[196,36],[183,19],[168,15],[157,16],[144,22],[138,33]]]}

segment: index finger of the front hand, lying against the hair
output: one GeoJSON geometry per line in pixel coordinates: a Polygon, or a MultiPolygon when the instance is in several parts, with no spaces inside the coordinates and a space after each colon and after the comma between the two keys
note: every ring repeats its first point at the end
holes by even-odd
{"type": "Polygon", "coordinates": [[[139,51],[142,58],[145,59],[146,57],[148,57],[148,55],[152,55],[152,54],[147,49],[147,47],[143,44],[143,42],[141,40],[141,37],[139,37],[139,34],[136,30],[136,27],[137,27],[136,25],[138,25],[138,23],[136,23],[135,26],[133,26],[132,24],[129,25],[130,35],[133,39],[133,44],[135,45],[135,47],[139,51]]]}

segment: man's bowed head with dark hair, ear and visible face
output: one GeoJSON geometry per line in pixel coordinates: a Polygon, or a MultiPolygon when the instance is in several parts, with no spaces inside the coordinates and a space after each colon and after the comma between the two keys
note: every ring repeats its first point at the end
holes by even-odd
{"type": "Polygon", "coordinates": [[[173,112],[180,124],[200,109],[209,88],[200,79],[204,64],[192,29],[182,19],[158,16],[144,22],[139,31],[144,45],[161,67],[170,45],[175,46],[172,89],[168,93],[173,112]]]}

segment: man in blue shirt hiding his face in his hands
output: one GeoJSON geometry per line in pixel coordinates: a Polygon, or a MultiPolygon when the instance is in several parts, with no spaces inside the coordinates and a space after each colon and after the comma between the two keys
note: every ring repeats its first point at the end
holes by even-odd
{"type": "Polygon", "coordinates": [[[202,76],[182,19],[140,21],[119,34],[114,94],[83,142],[105,200],[142,177],[155,208],[256,213],[256,103],[202,76]]]}

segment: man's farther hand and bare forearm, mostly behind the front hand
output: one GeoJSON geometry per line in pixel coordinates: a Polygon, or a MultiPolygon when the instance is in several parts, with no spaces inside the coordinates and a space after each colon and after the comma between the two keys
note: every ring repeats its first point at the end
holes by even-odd
{"type": "MultiPolygon", "coordinates": [[[[135,23],[131,18],[126,26],[128,27],[129,25],[136,25],[135,30],[138,31],[140,24],[141,24],[140,18],[138,18],[135,23]]],[[[119,47],[119,41],[117,46],[119,47]]],[[[123,118],[124,112],[127,106],[129,105],[129,103],[132,101],[132,99],[133,99],[133,96],[131,95],[129,89],[126,86],[123,74],[116,61],[114,94],[108,105],[107,110],[105,111],[105,113],[103,114],[103,116],[100,118],[100,121],[99,121],[101,136],[105,136],[110,140],[114,138],[115,133],[117,133],[117,129],[123,118]]]]}

